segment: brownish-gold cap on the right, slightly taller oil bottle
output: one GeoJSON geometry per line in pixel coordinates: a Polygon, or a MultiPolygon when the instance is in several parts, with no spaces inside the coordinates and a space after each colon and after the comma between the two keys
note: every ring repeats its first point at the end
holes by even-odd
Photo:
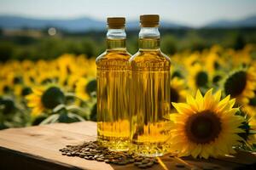
{"type": "Polygon", "coordinates": [[[140,16],[142,27],[155,27],[159,26],[159,14],[143,14],[140,16]]]}

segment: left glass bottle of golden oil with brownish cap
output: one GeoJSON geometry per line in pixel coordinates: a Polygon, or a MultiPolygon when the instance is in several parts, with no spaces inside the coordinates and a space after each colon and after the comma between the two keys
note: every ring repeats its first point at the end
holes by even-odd
{"type": "Polygon", "coordinates": [[[130,144],[130,65],[125,48],[125,18],[108,18],[107,50],[96,59],[97,140],[109,150],[130,144]]]}

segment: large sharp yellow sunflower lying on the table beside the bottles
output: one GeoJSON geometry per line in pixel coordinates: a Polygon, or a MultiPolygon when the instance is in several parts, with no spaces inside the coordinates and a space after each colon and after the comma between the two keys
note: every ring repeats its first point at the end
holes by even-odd
{"type": "Polygon", "coordinates": [[[232,146],[242,140],[237,133],[244,132],[240,128],[244,118],[235,115],[235,99],[220,98],[220,91],[213,95],[210,89],[203,97],[198,90],[195,99],[187,95],[187,103],[172,103],[177,113],[170,114],[170,151],[206,159],[235,153],[232,146]]]}

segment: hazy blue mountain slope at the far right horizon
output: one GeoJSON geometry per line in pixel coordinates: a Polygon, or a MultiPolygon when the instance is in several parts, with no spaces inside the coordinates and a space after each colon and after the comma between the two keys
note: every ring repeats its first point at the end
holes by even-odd
{"type": "Polygon", "coordinates": [[[210,28],[237,28],[237,27],[255,27],[256,15],[242,20],[217,20],[207,24],[204,27],[210,28]]]}

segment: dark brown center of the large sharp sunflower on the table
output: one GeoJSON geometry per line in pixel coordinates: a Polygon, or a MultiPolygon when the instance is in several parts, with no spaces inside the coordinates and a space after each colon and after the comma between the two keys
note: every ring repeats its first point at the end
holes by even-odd
{"type": "Polygon", "coordinates": [[[185,130],[190,141],[196,144],[207,144],[218,137],[221,122],[212,111],[202,111],[189,117],[185,130]]]}

